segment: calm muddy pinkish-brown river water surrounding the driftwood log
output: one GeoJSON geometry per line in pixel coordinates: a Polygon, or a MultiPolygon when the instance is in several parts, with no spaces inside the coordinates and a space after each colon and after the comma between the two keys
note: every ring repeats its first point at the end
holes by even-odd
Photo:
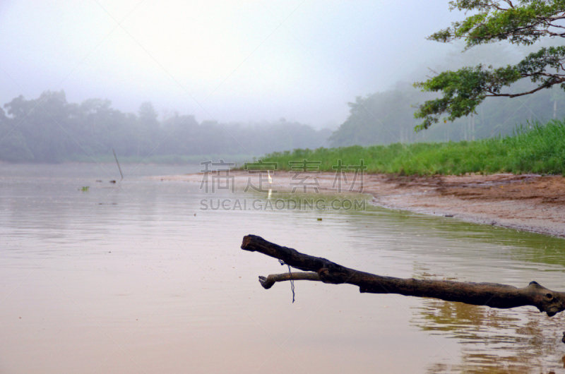
{"type": "Polygon", "coordinates": [[[194,171],[0,164],[0,373],[564,370],[562,315],[314,282],[292,303],[257,281],[287,268],[239,249],[257,234],[380,275],[562,291],[564,239],[374,207],[201,210],[266,195],[143,178],[194,171]]]}

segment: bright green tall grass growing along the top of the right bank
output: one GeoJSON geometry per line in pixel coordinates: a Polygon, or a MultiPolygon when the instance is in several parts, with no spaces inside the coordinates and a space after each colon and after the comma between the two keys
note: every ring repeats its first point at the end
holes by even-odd
{"type": "Polygon", "coordinates": [[[261,157],[263,162],[278,162],[278,168],[290,170],[289,161],[321,161],[320,170],[332,169],[341,159],[343,165],[357,165],[364,159],[367,172],[393,174],[565,174],[565,119],[546,125],[519,126],[513,135],[458,143],[400,143],[319,148],[275,152],[261,157]]]}

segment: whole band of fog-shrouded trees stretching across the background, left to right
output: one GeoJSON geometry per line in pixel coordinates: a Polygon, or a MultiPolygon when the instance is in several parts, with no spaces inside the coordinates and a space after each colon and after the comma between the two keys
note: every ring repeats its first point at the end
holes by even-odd
{"type": "Polygon", "coordinates": [[[150,102],[133,114],[112,108],[108,99],[75,104],[66,101],[63,91],[44,92],[35,100],[16,97],[0,108],[0,161],[109,161],[112,148],[119,157],[148,161],[187,162],[192,157],[196,162],[196,156],[211,155],[251,159],[296,148],[489,138],[512,133],[518,123],[565,116],[565,92],[549,89],[527,99],[497,97],[477,107],[474,116],[415,133],[421,120],[414,118],[414,106],[432,95],[398,83],[391,90],[357,97],[349,103],[347,120],[332,133],[284,119],[198,123],[194,116],[175,113],[159,121],[150,102]]]}

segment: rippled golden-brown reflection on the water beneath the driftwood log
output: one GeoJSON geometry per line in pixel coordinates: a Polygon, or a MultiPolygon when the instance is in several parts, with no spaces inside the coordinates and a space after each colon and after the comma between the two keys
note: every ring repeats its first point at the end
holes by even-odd
{"type": "Polygon", "coordinates": [[[547,318],[534,310],[497,310],[434,299],[413,311],[414,325],[460,344],[460,363],[434,363],[428,366],[429,373],[547,373],[563,368],[563,315],[547,318]]]}

